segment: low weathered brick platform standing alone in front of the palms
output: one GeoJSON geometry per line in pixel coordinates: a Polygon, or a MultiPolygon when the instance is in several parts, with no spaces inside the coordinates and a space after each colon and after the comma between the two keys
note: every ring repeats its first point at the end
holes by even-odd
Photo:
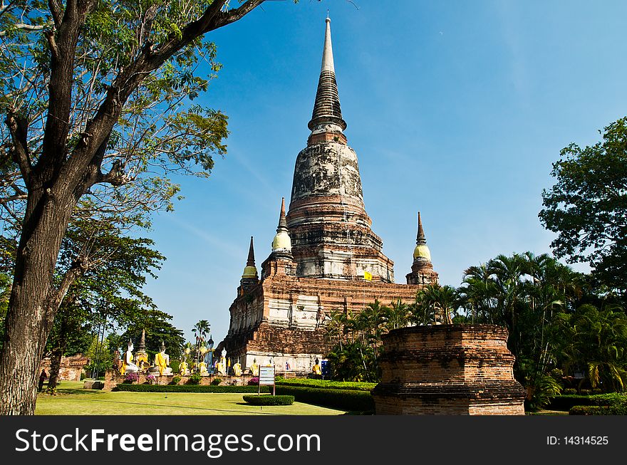
{"type": "Polygon", "coordinates": [[[376,414],[524,414],[501,326],[401,328],[383,337],[383,348],[376,414]]]}

